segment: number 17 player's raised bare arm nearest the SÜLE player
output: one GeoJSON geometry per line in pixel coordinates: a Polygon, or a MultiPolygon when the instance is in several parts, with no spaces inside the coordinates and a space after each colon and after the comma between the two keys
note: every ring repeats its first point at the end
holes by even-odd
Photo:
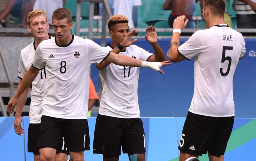
{"type": "Polygon", "coordinates": [[[156,28],[151,26],[148,26],[146,29],[146,35],[145,39],[147,40],[148,43],[151,44],[154,50],[154,56],[151,56],[148,61],[149,62],[161,62],[161,61],[166,61],[167,58],[164,55],[163,49],[159,46],[157,42],[157,33],[156,33],[156,28]]]}

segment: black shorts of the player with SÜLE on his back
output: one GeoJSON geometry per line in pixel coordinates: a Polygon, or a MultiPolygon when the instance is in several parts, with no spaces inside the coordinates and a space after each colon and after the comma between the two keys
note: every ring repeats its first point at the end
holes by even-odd
{"type": "Polygon", "coordinates": [[[234,116],[210,117],[188,112],[179,150],[191,155],[224,155],[234,124],[234,116]]]}

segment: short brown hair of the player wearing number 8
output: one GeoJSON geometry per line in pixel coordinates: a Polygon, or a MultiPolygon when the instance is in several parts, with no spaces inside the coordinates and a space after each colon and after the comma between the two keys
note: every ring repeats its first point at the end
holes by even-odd
{"type": "Polygon", "coordinates": [[[58,8],[58,9],[54,10],[54,12],[52,13],[52,19],[63,20],[65,18],[68,19],[68,23],[72,22],[72,14],[69,9],[58,8]]]}

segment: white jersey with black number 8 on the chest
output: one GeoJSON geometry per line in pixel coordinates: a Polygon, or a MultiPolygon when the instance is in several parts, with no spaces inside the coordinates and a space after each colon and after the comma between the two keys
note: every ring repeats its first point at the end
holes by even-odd
{"type": "Polygon", "coordinates": [[[46,69],[42,115],[65,119],[86,119],[89,98],[89,72],[109,50],[89,39],[74,36],[66,46],[55,39],[44,40],[35,52],[33,66],[46,69]]]}

